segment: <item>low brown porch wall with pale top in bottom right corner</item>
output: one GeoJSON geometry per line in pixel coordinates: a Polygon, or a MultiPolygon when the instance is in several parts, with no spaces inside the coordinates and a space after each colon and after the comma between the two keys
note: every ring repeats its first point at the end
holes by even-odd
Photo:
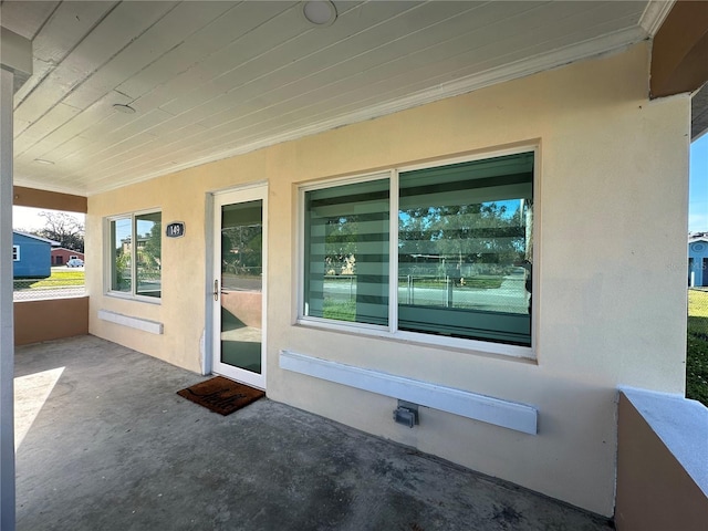
{"type": "Polygon", "coordinates": [[[625,393],[618,405],[616,528],[705,531],[708,493],[700,479],[706,478],[708,409],[677,396],[657,394],[642,403],[641,393],[625,393]]]}

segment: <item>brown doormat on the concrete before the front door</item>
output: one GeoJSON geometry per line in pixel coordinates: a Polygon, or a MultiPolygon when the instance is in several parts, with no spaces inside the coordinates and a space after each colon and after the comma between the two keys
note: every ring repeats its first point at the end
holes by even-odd
{"type": "Polygon", "coordinates": [[[207,379],[178,391],[177,394],[221,415],[230,415],[266,396],[260,389],[238,384],[223,376],[207,379]]]}

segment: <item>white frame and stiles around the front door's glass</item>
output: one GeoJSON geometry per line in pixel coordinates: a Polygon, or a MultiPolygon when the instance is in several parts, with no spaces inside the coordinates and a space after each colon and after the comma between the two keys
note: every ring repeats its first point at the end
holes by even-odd
{"type": "MultiPolygon", "coordinates": [[[[260,180],[256,183],[249,183],[242,186],[236,186],[227,189],[214,190],[207,192],[207,208],[206,208],[206,228],[207,228],[207,257],[206,257],[206,268],[207,268],[207,284],[206,284],[206,310],[207,310],[207,319],[206,319],[206,329],[205,329],[205,350],[202,356],[202,373],[207,374],[217,374],[215,373],[215,360],[216,355],[220,352],[220,339],[218,334],[220,334],[220,330],[217,331],[217,325],[221,324],[221,295],[219,294],[219,300],[214,300],[214,285],[215,280],[221,280],[221,257],[220,257],[220,247],[221,247],[221,228],[217,227],[217,218],[220,222],[220,212],[217,209],[217,198],[223,198],[225,196],[233,195],[238,197],[238,199],[232,202],[244,202],[251,200],[260,199],[262,201],[262,223],[263,223],[263,240],[262,240],[262,287],[261,287],[261,295],[262,295],[262,309],[261,309],[261,374],[260,378],[247,378],[250,379],[246,382],[243,379],[237,378],[239,382],[246,383],[247,385],[251,385],[253,387],[259,387],[261,389],[266,389],[267,382],[267,366],[268,366],[268,345],[267,345],[267,329],[268,329],[268,194],[269,187],[268,181],[260,180]],[[260,382],[253,383],[253,379],[260,379],[260,382]]],[[[220,290],[219,285],[219,290],[220,290]]],[[[244,372],[246,373],[246,372],[244,372]]],[[[251,373],[256,374],[256,373],[251,373]]]]}

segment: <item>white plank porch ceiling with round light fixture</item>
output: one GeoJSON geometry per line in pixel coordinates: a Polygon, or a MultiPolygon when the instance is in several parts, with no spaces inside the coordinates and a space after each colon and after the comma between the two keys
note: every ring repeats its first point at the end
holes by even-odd
{"type": "Polygon", "coordinates": [[[334,3],[319,28],[293,1],[2,1],[34,50],[14,183],[90,196],[618,49],[670,7],[334,3]]]}

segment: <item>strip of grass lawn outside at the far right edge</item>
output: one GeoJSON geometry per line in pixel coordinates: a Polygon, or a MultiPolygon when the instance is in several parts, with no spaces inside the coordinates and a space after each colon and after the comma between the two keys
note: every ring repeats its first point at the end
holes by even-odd
{"type": "Polygon", "coordinates": [[[688,290],[686,397],[708,407],[708,291],[688,290]]]}

